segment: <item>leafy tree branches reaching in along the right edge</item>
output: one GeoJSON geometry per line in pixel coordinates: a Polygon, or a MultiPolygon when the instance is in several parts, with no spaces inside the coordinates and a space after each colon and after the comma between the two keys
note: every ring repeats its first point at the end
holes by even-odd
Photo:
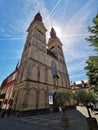
{"type": "MultiPolygon", "coordinates": [[[[93,24],[92,27],[88,27],[91,36],[86,38],[86,40],[90,42],[90,46],[93,46],[98,53],[98,14],[93,19],[93,24]]],[[[98,56],[90,56],[86,63],[85,69],[87,70],[89,86],[98,94],[98,56]]]]}

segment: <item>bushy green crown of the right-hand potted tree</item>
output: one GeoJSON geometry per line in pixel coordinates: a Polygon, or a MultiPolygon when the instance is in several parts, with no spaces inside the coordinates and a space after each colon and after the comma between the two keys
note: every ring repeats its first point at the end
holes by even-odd
{"type": "Polygon", "coordinates": [[[75,94],[77,101],[82,103],[84,106],[88,106],[89,103],[94,101],[94,95],[91,92],[77,90],[75,94]]]}

